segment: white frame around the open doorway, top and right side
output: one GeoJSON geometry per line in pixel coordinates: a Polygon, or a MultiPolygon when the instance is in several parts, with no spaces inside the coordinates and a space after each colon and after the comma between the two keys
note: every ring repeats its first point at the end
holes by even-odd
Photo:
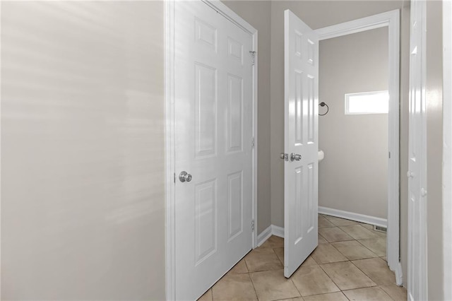
{"type": "Polygon", "coordinates": [[[386,13],[379,13],[374,16],[320,28],[316,30],[316,33],[319,34],[319,41],[321,41],[386,26],[388,27],[388,91],[390,95],[388,113],[388,237],[386,240],[386,254],[389,268],[396,273],[396,283],[402,285],[402,266],[400,265],[399,251],[400,10],[396,9],[386,13]]]}

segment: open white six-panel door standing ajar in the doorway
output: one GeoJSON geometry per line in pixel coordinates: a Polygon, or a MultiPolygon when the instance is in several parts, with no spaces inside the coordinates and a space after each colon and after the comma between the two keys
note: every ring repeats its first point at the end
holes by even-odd
{"type": "Polygon", "coordinates": [[[318,244],[319,37],[292,11],[284,13],[284,276],[288,278],[318,244]]]}

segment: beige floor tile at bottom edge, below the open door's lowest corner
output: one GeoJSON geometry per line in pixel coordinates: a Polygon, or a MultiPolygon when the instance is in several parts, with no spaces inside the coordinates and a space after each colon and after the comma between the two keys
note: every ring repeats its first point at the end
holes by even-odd
{"type": "Polygon", "coordinates": [[[280,300],[301,297],[292,280],[284,277],[284,270],[250,273],[258,300],[280,300]]]}

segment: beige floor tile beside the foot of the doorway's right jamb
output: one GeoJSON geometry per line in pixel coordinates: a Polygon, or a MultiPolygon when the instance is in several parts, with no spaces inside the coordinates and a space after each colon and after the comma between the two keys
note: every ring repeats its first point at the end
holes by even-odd
{"type": "Polygon", "coordinates": [[[352,263],[377,285],[396,283],[396,276],[388,268],[388,263],[381,258],[354,260],[352,263]]]}

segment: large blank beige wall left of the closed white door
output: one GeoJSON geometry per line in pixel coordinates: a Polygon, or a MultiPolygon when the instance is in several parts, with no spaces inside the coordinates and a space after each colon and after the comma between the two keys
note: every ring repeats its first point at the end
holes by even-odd
{"type": "Polygon", "coordinates": [[[164,300],[162,2],[1,6],[1,300],[164,300]]]}

